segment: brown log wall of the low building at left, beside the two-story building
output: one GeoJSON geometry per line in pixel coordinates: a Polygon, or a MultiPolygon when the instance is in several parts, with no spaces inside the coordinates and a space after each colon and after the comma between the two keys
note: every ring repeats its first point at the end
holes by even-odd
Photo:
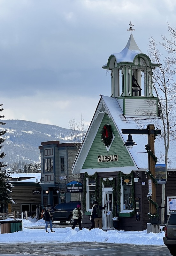
{"type": "Polygon", "coordinates": [[[15,185],[11,188],[11,197],[16,204],[11,204],[11,211],[21,213],[21,204],[41,205],[41,195],[33,195],[33,189],[40,189],[40,186],[15,185]]]}

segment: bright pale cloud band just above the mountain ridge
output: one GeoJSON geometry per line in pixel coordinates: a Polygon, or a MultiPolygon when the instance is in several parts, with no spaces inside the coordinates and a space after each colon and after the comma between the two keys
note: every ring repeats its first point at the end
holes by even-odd
{"type": "Polygon", "coordinates": [[[94,115],[100,97],[57,96],[54,92],[38,92],[32,98],[19,96],[14,99],[2,98],[5,119],[28,120],[43,124],[53,124],[68,128],[69,120],[80,120],[81,114],[85,124],[89,124],[94,115]]]}

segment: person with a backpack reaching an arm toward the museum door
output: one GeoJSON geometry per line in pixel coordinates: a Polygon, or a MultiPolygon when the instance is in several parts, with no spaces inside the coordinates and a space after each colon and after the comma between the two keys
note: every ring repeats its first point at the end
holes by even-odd
{"type": "Polygon", "coordinates": [[[106,204],[104,207],[102,205],[98,205],[98,202],[94,202],[95,206],[92,211],[91,218],[94,219],[95,228],[102,228],[102,210],[106,208],[106,204]]]}

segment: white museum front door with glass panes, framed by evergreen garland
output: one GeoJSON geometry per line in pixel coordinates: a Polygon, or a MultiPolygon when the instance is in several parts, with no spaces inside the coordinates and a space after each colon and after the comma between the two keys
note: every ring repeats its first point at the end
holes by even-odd
{"type": "MultiPolygon", "coordinates": [[[[107,188],[106,188],[107,190],[107,188]]],[[[112,190],[109,188],[109,190],[112,190]]],[[[106,208],[102,211],[102,222],[103,229],[110,230],[113,228],[113,220],[112,220],[112,210],[113,210],[113,202],[112,202],[112,191],[103,191],[102,195],[102,206],[106,204],[106,208]]]]}

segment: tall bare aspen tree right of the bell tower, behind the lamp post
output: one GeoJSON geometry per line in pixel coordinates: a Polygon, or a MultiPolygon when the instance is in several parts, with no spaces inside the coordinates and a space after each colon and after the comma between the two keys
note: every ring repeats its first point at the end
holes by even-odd
{"type": "MultiPolygon", "coordinates": [[[[161,129],[161,136],[164,139],[165,154],[160,156],[165,162],[165,178],[167,180],[167,171],[170,164],[170,159],[168,158],[168,150],[172,141],[176,138],[176,88],[174,82],[174,76],[176,74],[176,61],[174,53],[176,51],[175,39],[176,33],[169,26],[169,31],[171,32],[171,39],[168,40],[166,36],[162,36],[163,42],[159,45],[164,46],[166,51],[166,57],[161,62],[162,54],[158,50],[158,44],[156,44],[153,37],[150,37],[149,41],[149,56],[151,60],[158,64],[158,68],[153,69],[152,79],[153,79],[153,89],[154,94],[158,98],[158,113],[162,120],[162,124],[157,124],[157,129],[161,129]],[[174,39],[174,40],[173,40],[174,39]]],[[[165,184],[162,188],[162,203],[161,203],[161,220],[164,221],[165,214],[165,184]]]]}

